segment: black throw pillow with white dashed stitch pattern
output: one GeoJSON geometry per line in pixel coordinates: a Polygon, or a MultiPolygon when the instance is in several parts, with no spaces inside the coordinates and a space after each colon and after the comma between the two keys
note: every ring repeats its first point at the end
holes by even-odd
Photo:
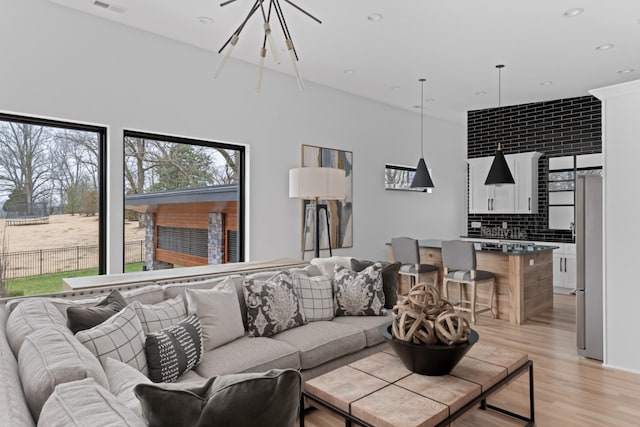
{"type": "Polygon", "coordinates": [[[174,382],[202,361],[202,327],[192,314],[177,325],[147,335],[145,345],[151,381],[174,382]]]}

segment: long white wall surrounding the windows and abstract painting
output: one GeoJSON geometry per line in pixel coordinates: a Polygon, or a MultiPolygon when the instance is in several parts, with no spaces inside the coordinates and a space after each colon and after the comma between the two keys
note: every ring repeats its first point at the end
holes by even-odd
{"type": "MultiPolygon", "coordinates": [[[[354,246],[339,254],[385,258],[395,235],[466,233],[464,123],[425,120],[433,194],[383,189],[385,162],[414,165],[419,116],[230,61],[45,0],[0,0],[0,111],[109,128],[109,272],[121,268],[123,129],[249,147],[249,258],[300,256],[301,207],[288,199],[300,145],[353,151],[354,246]]],[[[398,64],[401,67],[402,64],[398,64]]],[[[304,71],[304,70],[303,70],[304,71]]]]}

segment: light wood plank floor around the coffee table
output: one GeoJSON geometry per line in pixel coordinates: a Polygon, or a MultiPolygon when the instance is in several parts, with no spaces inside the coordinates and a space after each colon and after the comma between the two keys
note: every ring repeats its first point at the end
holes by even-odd
{"type": "MultiPolygon", "coordinates": [[[[485,313],[486,315],[486,313],[485,313]]],[[[554,296],[554,309],[517,326],[480,315],[480,341],[529,354],[534,363],[536,425],[541,427],[640,426],[640,375],[602,367],[577,356],[575,297],[554,296]]],[[[528,412],[528,376],[523,375],[489,401],[528,412]]],[[[310,409],[310,427],[344,426],[326,410],[310,409]]],[[[456,427],[511,427],[522,422],[493,411],[471,411],[456,427]]]]}

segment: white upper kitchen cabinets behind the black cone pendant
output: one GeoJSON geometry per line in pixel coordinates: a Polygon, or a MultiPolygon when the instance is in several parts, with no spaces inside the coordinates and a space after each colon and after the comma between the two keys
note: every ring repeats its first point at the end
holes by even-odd
{"type": "Polygon", "coordinates": [[[491,157],[468,159],[469,213],[538,213],[538,160],[541,153],[505,156],[515,185],[484,185],[493,162],[491,157]]]}

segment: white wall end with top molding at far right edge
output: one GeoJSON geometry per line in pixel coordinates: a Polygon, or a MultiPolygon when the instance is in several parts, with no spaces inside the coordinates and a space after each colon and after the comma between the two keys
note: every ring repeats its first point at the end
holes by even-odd
{"type": "Polygon", "coordinates": [[[604,363],[640,372],[640,80],[591,93],[603,101],[604,119],[604,363]]]}

